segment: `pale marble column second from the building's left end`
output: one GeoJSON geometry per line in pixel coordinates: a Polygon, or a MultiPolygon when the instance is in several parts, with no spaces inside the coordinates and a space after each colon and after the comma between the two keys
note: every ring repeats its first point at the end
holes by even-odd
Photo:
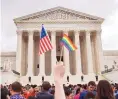
{"type": "Polygon", "coordinates": [[[27,76],[34,75],[34,32],[28,31],[28,71],[27,76]]]}

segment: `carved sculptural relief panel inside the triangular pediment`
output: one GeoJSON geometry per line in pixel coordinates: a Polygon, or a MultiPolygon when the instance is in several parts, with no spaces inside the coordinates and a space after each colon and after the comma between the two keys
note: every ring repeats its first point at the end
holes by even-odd
{"type": "Polygon", "coordinates": [[[23,18],[21,21],[28,21],[28,20],[97,20],[97,19],[69,11],[55,10],[23,18]]]}

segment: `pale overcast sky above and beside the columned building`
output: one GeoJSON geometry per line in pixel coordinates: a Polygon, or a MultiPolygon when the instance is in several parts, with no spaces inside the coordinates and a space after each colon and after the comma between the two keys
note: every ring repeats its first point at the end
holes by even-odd
{"type": "Polygon", "coordinates": [[[1,51],[16,51],[17,28],[14,18],[57,6],[104,18],[103,49],[118,50],[118,0],[2,0],[1,51]]]}

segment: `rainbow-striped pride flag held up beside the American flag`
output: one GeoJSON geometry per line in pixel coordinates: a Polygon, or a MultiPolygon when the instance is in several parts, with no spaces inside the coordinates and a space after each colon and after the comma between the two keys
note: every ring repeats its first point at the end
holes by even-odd
{"type": "Polygon", "coordinates": [[[66,34],[63,34],[63,37],[61,39],[61,44],[64,45],[69,51],[74,51],[77,49],[75,44],[73,44],[71,39],[66,34]]]}

